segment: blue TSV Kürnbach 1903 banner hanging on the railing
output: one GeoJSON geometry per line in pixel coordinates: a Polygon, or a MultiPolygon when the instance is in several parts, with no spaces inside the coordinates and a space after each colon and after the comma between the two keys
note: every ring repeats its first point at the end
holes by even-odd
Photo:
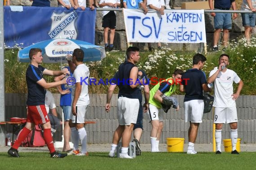
{"type": "Polygon", "coordinates": [[[70,38],[94,44],[96,10],[53,7],[4,7],[4,43],[7,47],[28,47],[34,43],[70,38]]]}

